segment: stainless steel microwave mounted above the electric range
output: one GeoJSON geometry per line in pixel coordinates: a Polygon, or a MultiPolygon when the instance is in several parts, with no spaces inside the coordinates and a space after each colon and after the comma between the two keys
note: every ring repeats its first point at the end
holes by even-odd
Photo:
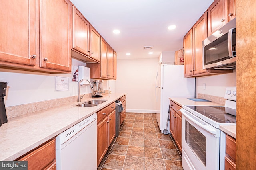
{"type": "Polygon", "coordinates": [[[236,68],[236,18],[203,41],[203,68],[236,68]]]}

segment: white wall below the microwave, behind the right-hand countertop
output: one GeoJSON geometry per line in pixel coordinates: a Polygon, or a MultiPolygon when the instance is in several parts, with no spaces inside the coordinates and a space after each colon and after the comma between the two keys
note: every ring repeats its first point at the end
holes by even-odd
{"type": "Polygon", "coordinates": [[[196,94],[224,97],[228,86],[236,86],[236,70],[233,73],[196,78],[196,94]],[[205,89],[203,83],[206,83],[205,89]]]}

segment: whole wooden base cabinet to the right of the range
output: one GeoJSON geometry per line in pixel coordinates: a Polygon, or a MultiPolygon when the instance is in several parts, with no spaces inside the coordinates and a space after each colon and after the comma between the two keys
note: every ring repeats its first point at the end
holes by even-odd
{"type": "Polygon", "coordinates": [[[225,170],[236,169],[236,139],[226,135],[225,170]]]}

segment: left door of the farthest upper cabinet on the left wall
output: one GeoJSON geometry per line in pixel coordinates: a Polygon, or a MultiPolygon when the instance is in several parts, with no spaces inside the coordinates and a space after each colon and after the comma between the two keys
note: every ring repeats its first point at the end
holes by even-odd
{"type": "Polygon", "coordinates": [[[100,43],[100,76],[104,78],[108,78],[108,44],[107,42],[101,38],[100,43]]]}

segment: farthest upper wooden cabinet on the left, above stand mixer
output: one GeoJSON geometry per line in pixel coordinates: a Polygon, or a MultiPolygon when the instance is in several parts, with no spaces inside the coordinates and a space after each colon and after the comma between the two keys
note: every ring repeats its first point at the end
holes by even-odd
{"type": "Polygon", "coordinates": [[[115,80],[116,77],[114,78],[114,75],[116,75],[116,53],[102,37],[100,49],[100,63],[87,64],[87,66],[91,70],[90,77],[106,80],[115,80]],[[114,73],[113,70],[115,71],[114,73]]]}

